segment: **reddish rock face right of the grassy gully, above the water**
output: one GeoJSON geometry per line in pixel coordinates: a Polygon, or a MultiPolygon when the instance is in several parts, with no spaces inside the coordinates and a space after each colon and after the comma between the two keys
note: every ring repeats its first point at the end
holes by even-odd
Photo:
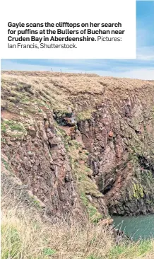
{"type": "Polygon", "coordinates": [[[153,86],[113,91],[78,123],[89,164],[110,214],[153,212],[153,86]]]}

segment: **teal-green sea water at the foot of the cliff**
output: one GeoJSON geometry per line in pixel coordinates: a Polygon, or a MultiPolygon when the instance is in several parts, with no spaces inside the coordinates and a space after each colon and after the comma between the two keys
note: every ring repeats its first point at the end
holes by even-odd
{"type": "Polygon", "coordinates": [[[112,217],[114,226],[133,240],[154,238],[154,214],[137,217],[112,217]]]}

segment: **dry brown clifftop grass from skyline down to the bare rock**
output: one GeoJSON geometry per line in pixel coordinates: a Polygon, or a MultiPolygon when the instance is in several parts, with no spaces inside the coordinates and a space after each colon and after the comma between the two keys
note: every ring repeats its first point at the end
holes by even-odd
{"type": "MultiPolygon", "coordinates": [[[[140,95],[149,99],[153,96],[153,81],[139,79],[118,79],[95,74],[66,74],[41,71],[3,71],[1,73],[2,99],[18,103],[22,99],[20,86],[31,86],[31,102],[36,98],[48,101],[52,109],[78,111],[95,109],[95,105],[105,100],[117,103],[122,98],[140,95]],[[131,93],[130,93],[131,91],[131,93]],[[6,92],[6,95],[4,94],[6,92]]],[[[26,91],[29,91],[26,89],[26,91]]],[[[25,94],[25,93],[24,93],[25,94]]],[[[29,93],[28,93],[29,94],[29,93]]]]}

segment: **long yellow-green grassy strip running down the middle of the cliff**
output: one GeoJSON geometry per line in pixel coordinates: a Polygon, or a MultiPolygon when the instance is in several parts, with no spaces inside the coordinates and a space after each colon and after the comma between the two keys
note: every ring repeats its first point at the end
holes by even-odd
{"type": "Polygon", "coordinates": [[[98,212],[93,202],[90,202],[86,195],[102,197],[102,193],[99,192],[97,185],[95,185],[93,180],[89,177],[91,176],[91,169],[86,165],[89,153],[82,149],[79,151],[81,144],[76,142],[76,140],[69,140],[68,142],[66,141],[66,138],[64,139],[66,150],[70,157],[71,167],[78,183],[78,191],[81,195],[81,201],[88,213],[90,221],[96,223],[102,219],[102,214],[98,212]]]}

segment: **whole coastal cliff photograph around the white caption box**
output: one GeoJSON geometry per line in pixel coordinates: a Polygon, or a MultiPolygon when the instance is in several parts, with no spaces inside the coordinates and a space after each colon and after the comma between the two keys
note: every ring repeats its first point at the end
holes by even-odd
{"type": "Polygon", "coordinates": [[[1,259],[154,258],[153,32],[136,1],[136,59],[1,59],[1,259]]]}

